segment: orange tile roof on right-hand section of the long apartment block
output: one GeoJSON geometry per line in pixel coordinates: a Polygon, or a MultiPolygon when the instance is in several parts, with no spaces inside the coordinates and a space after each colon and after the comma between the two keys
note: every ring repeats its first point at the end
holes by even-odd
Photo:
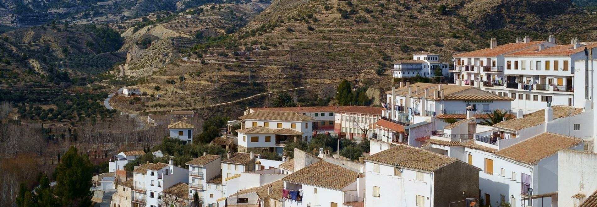
{"type": "Polygon", "coordinates": [[[583,45],[574,49],[574,45],[556,45],[554,47],[546,48],[539,51],[538,47],[531,47],[527,50],[521,50],[513,52],[511,54],[504,55],[504,57],[528,57],[528,56],[570,56],[577,52],[584,52],[584,48],[594,48],[597,44],[583,45]]]}

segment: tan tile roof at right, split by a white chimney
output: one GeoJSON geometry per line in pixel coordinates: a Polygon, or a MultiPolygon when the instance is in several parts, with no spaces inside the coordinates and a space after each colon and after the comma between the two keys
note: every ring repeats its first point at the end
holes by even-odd
{"type": "MultiPolygon", "coordinates": [[[[571,106],[552,106],[553,119],[564,118],[567,116],[578,115],[583,112],[582,108],[575,108],[571,106]]],[[[545,123],[545,109],[538,110],[537,112],[528,113],[522,118],[510,119],[500,123],[496,123],[493,126],[499,129],[516,131],[519,129],[529,128],[531,126],[537,126],[541,123],[545,123]]]]}

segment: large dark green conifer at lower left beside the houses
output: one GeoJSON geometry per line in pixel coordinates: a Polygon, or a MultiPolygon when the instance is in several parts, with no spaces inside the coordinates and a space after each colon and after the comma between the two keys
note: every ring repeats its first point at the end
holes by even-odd
{"type": "Polygon", "coordinates": [[[74,146],[64,153],[56,167],[54,191],[60,206],[91,206],[91,177],[93,165],[87,156],[78,155],[74,146]]]}

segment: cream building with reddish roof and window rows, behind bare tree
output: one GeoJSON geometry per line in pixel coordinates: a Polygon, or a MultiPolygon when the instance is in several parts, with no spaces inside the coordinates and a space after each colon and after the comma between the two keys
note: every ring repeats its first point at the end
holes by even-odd
{"type": "Polygon", "coordinates": [[[334,130],[338,137],[351,140],[361,140],[364,137],[373,137],[371,125],[381,119],[380,107],[351,106],[336,113],[334,130]]]}

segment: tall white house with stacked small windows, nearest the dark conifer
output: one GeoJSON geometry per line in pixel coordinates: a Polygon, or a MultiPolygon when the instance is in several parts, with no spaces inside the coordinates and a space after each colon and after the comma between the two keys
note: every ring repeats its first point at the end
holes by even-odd
{"type": "Polygon", "coordinates": [[[146,163],[133,171],[134,206],[158,207],[162,201],[162,190],[177,183],[186,183],[188,170],[166,163],[146,163]],[[136,204],[135,204],[136,203],[136,204]]]}

